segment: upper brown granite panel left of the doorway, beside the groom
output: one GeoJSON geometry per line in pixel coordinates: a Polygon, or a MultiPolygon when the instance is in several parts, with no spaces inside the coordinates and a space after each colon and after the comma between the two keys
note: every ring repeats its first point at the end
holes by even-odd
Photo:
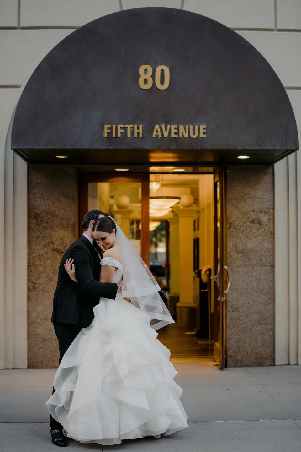
{"type": "Polygon", "coordinates": [[[75,169],[28,167],[28,263],[59,265],[75,240],[75,169]]]}

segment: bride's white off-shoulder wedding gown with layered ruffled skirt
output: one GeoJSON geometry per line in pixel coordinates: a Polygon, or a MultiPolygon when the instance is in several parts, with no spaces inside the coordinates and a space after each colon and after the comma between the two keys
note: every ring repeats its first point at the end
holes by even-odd
{"type": "MultiPolygon", "coordinates": [[[[102,265],[122,266],[104,257],[102,265]]],[[[170,435],[188,427],[173,381],[170,352],[157,340],[148,315],[117,293],[101,298],[94,320],[63,357],[46,407],[81,443],[113,445],[123,439],[170,435]]]]}

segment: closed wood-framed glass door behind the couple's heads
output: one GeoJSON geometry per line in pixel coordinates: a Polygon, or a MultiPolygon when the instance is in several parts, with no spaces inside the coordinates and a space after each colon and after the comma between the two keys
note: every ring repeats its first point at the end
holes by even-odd
{"type": "Polygon", "coordinates": [[[107,212],[149,265],[149,174],[80,173],[79,231],[93,209],[107,212]]]}

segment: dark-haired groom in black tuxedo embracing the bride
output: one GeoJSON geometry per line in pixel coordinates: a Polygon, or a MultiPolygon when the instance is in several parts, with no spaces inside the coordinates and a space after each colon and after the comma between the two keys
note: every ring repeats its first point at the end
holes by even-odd
{"type": "MultiPolygon", "coordinates": [[[[121,292],[122,283],[99,282],[102,258],[101,248],[93,236],[93,225],[107,213],[92,210],[83,217],[83,234],[65,252],[59,267],[59,277],[53,297],[53,323],[59,343],[61,362],[65,352],[72,344],[82,328],[89,326],[93,320],[93,307],[99,303],[100,297],[115,300],[117,292],[121,292]],[[74,259],[76,279],[72,281],[64,264],[67,259],[74,259]]],[[[55,389],[53,389],[53,392],[55,389]]],[[[51,440],[59,447],[67,446],[63,427],[50,416],[51,440]]]]}

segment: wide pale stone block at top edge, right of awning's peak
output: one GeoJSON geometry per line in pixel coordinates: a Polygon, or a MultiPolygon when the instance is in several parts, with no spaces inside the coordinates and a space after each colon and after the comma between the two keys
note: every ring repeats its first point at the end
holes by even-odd
{"type": "Polygon", "coordinates": [[[274,28],[273,0],[185,0],[184,9],[230,28],[274,28]]]}

